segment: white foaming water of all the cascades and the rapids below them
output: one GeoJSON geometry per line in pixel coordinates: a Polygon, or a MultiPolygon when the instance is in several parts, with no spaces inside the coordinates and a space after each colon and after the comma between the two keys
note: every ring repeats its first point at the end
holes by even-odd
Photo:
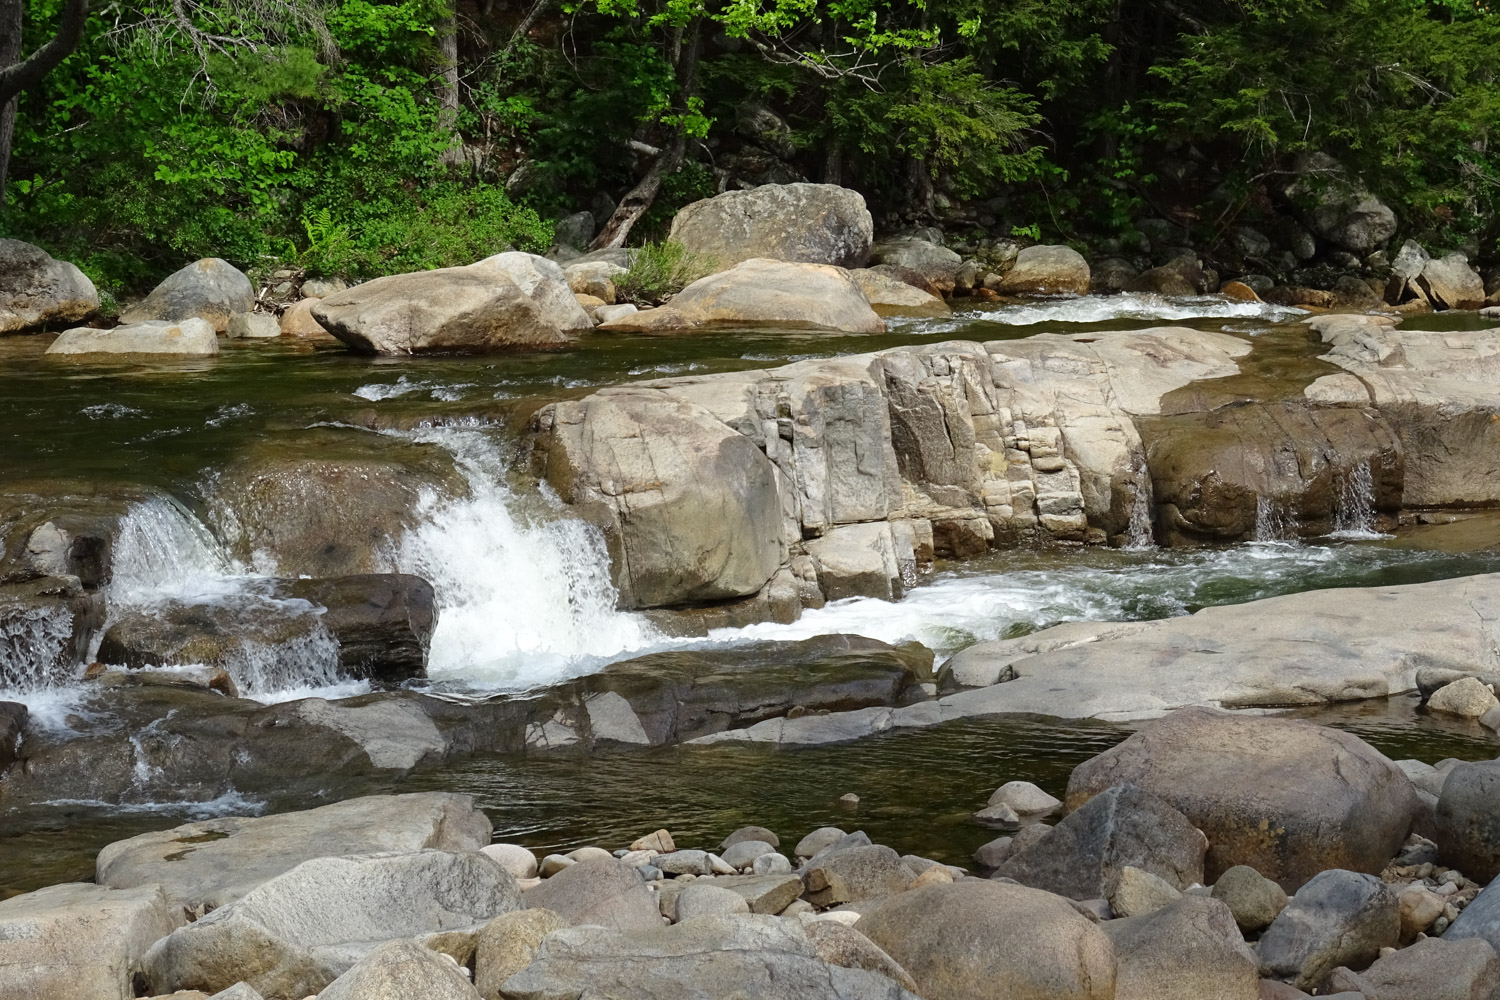
{"type": "MultiPolygon", "coordinates": [[[[902,601],[852,598],[808,610],[789,625],[766,622],[717,630],[705,639],[669,639],[644,615],[615,609],[597,529],[570,517],[546,495],[522,496],[507,486],[504,454],[490,432],[442,427],[404,436],[446,448],[468,486],[462,498],[426,495],[416,526],[393,538],[384,553],[384,568],[434,585],[438,621],[428,673],[434,685],[450,691],[530,690],[652,649],[828,633],[915,639],[945,655],[976,640],[1060,621],[1182,615],[1204,604],[1358,582],[1436,558],[1384,546],[1278,540],[1286,535],[1269,505],[1263,543],[1158,550],[1149,547],[1143,508],[1128,550],[1078,550],[1066,561],[993,553],[936,574],[902,601]]],[[[1347,478],[1340,528],[1368,538],[1370,469],[1354,469],[1347,478]]],[[[111,618],[123,610],[150,612],[166,601],[267,601],[264,574],[274,574],[274,567],[261,559],[255,571],[237,564],[182,505],[147,501],[130,511],[116,544],[111,618]]],[[[57,631],[58,625],[39,627],[57,631]]],[[[0,657],[26,657],[26,639],[0,637],[0,657]]],[[[336,654],[332,640],[246,642],[226,666],[242,690],[262,702],[368,690],[338,681],[336,654]]],[[[12,678],[9,690],[0,687],[0,699],[22,700],[42,712],[60,712],[76,700],[78,688],[70,682],[76,673],[45,682],[34,670],[0,676],[12,678]]]]}

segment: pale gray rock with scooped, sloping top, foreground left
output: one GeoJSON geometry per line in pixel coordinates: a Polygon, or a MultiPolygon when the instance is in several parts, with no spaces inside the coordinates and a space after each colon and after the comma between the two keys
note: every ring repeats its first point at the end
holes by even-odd
{"type": "Polygon", "coordinates": [[[516,879],[478,852],[316,858],[162,939],[144,960],[156,993],[244,981],[297,1000],[375,946],[520,909],[516,879]]]}

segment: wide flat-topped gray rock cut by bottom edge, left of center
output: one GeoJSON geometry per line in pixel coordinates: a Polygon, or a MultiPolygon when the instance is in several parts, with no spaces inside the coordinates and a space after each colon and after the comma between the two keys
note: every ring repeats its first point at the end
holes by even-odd
{"type": "Polygon", "coordinates": [[[710,916],[622,934],[573,927],[549,934],[507,1000],[915,1000],[891,979],[832,966],[796,921],[710,916]]]}

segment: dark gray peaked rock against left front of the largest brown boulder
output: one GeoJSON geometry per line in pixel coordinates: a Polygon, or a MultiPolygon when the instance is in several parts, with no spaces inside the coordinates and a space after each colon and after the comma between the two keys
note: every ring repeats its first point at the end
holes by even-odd
{"type": "Polygon", "coordinates": [[[1174,889],[1203,882],[1203,834],[1166,801],[1122,784],[1095,795],[1028,847],[1012,844],[998,876],[1072,900],[1112,898],[1140,868],[1174,889]]]}

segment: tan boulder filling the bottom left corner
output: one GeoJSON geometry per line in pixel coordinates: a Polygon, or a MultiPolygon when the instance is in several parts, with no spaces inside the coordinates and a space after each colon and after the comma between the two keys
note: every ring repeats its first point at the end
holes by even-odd
{"type": "Polygon", "coordinates": [[[6,1000],[132,1000],[141,961],[182,924],[160,886],[48,886],[0,901],[6,1000]]]}

